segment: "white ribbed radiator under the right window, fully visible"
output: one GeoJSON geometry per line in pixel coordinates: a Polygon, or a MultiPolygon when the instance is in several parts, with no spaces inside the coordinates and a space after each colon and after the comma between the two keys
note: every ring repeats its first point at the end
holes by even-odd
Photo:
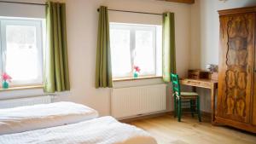
{"type": "Polygon", "coordinates": [[[111,114],[114,118],[166,110],[166,84],[112,89],[111,114]]]}

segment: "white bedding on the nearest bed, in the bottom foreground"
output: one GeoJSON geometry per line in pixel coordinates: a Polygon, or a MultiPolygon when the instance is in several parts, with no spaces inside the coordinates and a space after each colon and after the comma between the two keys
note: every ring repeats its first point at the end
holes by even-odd
{"type": "Polygon", "coordinates": [[[156,144],[146,131],[112,117],[0,135],[1,144],[156,144]]]}

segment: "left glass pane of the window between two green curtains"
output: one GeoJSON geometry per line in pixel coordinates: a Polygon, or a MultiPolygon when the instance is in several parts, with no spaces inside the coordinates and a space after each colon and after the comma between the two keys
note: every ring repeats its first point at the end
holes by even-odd
{"type": "Polygon", "coordinates": [[[131,73],[130,31],[112,29],[110,46],[113,77],[125,77],[131,73]]]}

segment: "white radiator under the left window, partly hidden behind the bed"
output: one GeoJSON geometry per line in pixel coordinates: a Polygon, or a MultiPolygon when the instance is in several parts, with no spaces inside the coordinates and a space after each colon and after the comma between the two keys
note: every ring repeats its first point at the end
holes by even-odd
{"type": "Polygon", "coordinates": [[[0,100],[0,108],[47,104],[47,103],[51,103],[53,99],[54,99],[54,95],[40,95],[40,96],[34,96],[34,97],[0,100]]]}

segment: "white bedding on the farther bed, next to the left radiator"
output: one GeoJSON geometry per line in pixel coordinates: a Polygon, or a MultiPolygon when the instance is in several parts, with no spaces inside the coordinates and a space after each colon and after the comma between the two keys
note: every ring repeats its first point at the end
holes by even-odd
{"type": "Polygon", "coordinates": [[[73,124],[97,117],[96,110],[73,102],[0,109],[0,135],[73,124]]]}

